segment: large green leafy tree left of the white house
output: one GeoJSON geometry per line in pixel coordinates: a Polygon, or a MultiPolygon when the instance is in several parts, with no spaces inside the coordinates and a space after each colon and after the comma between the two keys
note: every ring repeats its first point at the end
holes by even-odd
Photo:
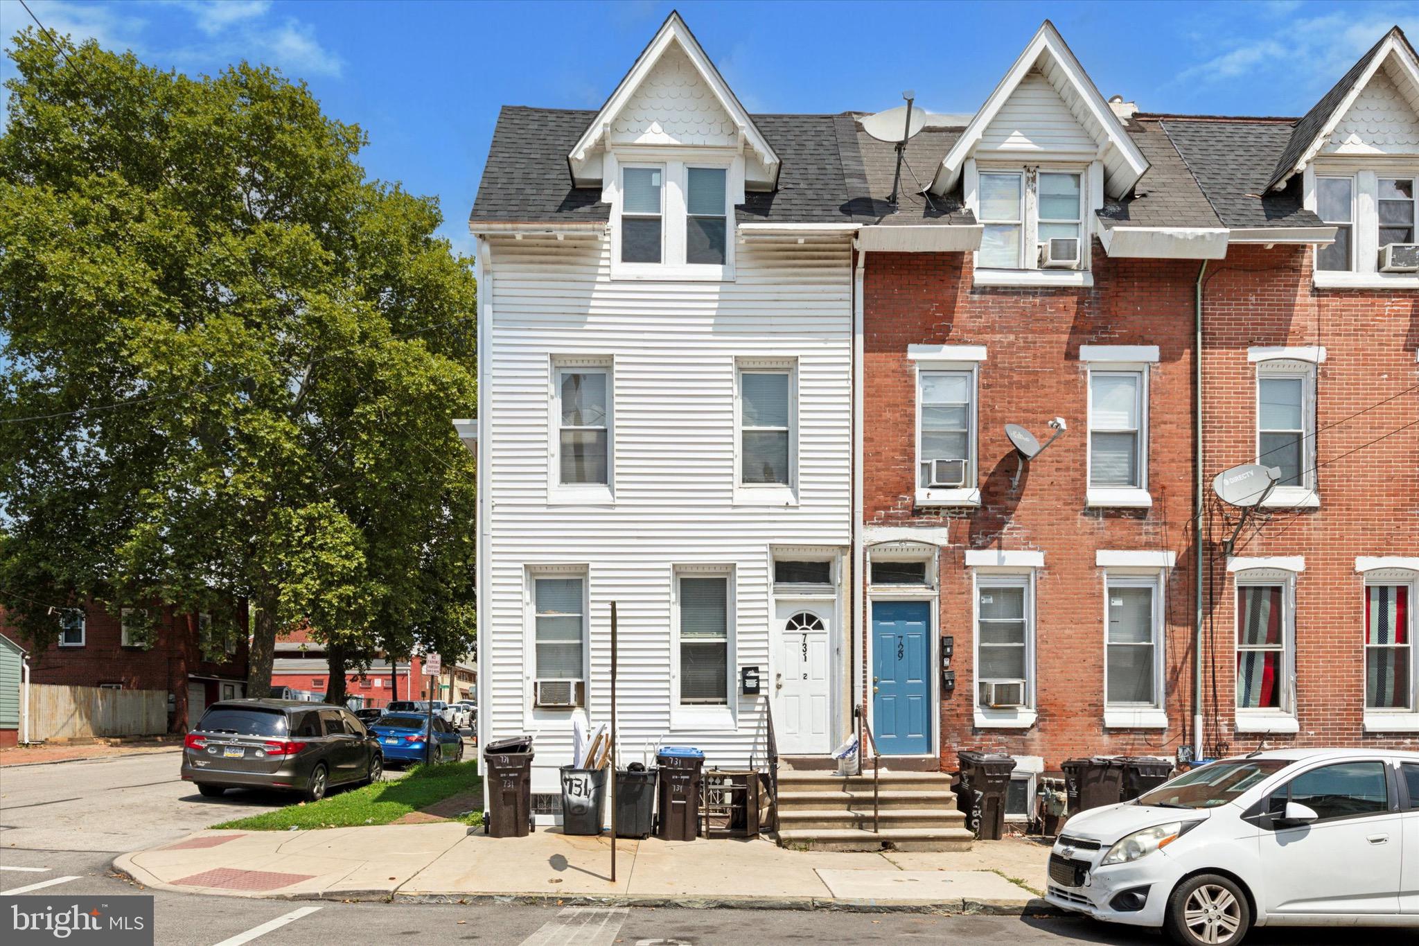
{"type": "Polygon", "coordinates": [[[163,601],[220,648],[245,599],[251,695],[298,624],[332,696],[377,650],[470,650],[475,285],[437,203],[272,69],[60,45],[16,37],[0,138],[11,621],[163,601]]]}

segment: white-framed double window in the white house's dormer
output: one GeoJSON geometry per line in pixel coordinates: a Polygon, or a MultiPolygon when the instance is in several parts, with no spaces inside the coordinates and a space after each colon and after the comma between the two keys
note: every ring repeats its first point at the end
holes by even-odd
{"type": "Polygon", "coordinates": [[[619,163],[607,194],[616,240],[612,275],[624,279],[732,279],[729,213],[738,165],[656,149],[656,163],[619,163]]]}

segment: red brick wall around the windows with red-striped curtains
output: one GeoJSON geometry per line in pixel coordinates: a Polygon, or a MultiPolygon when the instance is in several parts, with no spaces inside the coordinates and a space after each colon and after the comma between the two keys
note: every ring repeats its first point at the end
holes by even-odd
{"type": "Polygon", "coordinates": [[[1307,250],[1236,247],[1209,269],[1205,295],[1203,457],[1208,475],[1254,458],[1256,372],[1249,346],[1321,345],[1317,376],[1318,509],[1276,511],[1237,540],[1243,556],[1304,556],[1296,580],[1294,736],[1237,733],[1235,596],[1209,511],[1215,603],[1205,650],[1209,752],[1288,745],[1419,746],[1366,736],[1364,580],[1357,556],[1419,556],[1419,292],[1315,291],[1307,250]],[[1381,401],[1386,401],[1381,404],[1381,401]],[[1384,438],[1384,440],[1379,440],[1384,438]],[[1376,441],[1378,443],[1371,443],[1376,441]],[[1354,451],[1354,452],[1352,452],[1354,451]],[[1213,709],[1216,712],[1213,712],[1213,709]]]}

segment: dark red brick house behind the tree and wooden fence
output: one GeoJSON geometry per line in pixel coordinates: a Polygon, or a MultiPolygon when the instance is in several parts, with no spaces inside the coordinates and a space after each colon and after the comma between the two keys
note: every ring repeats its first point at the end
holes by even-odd
{"type": "MultiPolygon", "coordinates": [[[[30,651],[31,684],[167,691],[167,730],[180,733],[201,718],[209,703],[245,695],[247,641],[231,641],[221,658],[210,660],[201,645],[206,614],[158,610],[156,633],[146,644],[102,606],[72,610],[60,638],[44,650],[34,650],[4,624],[3,616],[0,634],[30,651]]],[[[244,627],[245,620],[243,603],[238,625],[244,627]]]]}

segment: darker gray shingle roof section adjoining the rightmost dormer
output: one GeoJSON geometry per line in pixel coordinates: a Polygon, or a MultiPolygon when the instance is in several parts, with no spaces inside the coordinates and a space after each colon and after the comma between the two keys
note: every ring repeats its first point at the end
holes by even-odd
{"type": "Polygon", "coordinates": [[[1188,170],[1227,227],[1320,227],[1301,207],[1301,182],[1267,190],[1277,156],[1291,138],[1291,122],[1249,118],[1159,121],[1188,170]]]}

